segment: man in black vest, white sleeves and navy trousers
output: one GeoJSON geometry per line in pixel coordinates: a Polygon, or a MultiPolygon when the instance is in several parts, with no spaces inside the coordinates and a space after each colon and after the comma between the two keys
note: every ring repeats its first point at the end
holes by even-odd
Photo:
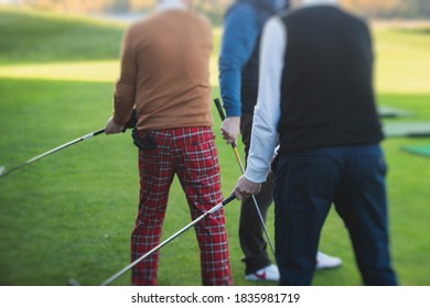
{"type": "Polygon", "coordinates": [[[237,198],[257,194],[277,140],[276,257],[280,285],[310,285],[334,204],[365,285],[397,285],[391,268],[386,164],[367,25],[335,0],[302,0],[271,18],[260,50],[258,101],[237,198]]]}

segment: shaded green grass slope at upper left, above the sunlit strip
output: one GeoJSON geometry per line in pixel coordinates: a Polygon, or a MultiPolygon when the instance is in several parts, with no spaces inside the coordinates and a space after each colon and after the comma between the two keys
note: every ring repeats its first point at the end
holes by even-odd
{"type": "Polygon", "coordinates": [[[0,11],[0,64],[118,57],[121,25],[50,13],[0,11]]]}

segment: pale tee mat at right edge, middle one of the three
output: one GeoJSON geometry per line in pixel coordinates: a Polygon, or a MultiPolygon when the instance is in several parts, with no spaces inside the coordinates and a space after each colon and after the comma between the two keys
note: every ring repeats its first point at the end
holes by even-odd
{"type": "Polygon", "coordinates": [[[383,122],[387,138],[430,138],[430,122],[383,122]]]}

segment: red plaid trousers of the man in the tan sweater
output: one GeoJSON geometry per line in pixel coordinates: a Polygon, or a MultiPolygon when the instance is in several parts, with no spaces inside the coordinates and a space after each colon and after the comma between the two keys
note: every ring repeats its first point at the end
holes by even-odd
{"type": "MultiPolygon", "coordinates": [[[[176,174],[186,195],[192,219],[223,200],[219,165],[211,128],[151,131],[155,150],[139,150],[140,204],[131,234],[131,261],[161,241],[168,195],[176,174]]],[[[194,226],[201,252],[203,285],[232,285],[224,210],[194,226]]],[[[132,268],[133,285],[157,285],[159,252],[132,268]]]]}

